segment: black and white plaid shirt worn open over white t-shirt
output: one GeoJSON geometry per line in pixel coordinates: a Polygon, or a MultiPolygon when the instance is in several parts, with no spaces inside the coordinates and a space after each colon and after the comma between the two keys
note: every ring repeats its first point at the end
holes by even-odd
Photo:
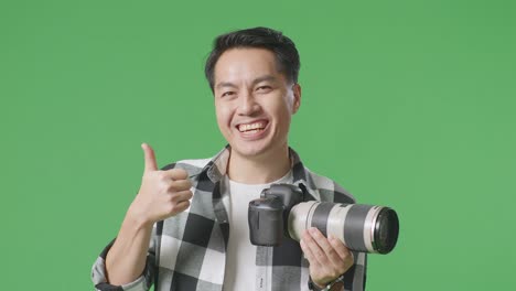
{"type": "MultiPolygon", "coordinates": [[[[101,291],[143,291],[154,284],[157,291],[223,290],[226,246],[229,238],[228,213],[219,183],[226,174],[230,148],[213,159],[184,160],[162,170],[184,169],[194,193],[187,211],[159,222],[152,238],[143,274],[125,285],[107,283],[105,259],[112,242],[93,266],[95,288],[101,291]]],[[[310,172],[290,149],[293,184],[303,184],[308,200],[354,203],[355,200],[332,180],[310,172]]],[[[227,205],[227,204],[226,204],[227,205]]],[[[249,238],[243,238],[249,239],[249,238]]],[[[344,289],[365,289],[366,254],[354,252],[355,265],[344,274],[344,289]]],[[[309,263],[298,241],[283,238],[279,247],[257,247],[256,287],[259,291],[308,290],[309,263]]]]}

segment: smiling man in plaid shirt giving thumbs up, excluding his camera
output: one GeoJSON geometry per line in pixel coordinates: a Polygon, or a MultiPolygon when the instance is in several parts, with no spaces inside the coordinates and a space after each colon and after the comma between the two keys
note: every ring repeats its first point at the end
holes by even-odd
{"type": "Polygon", "coordinates": [[[272,183],[303,184],[309,200],[353,203],[303,166],[288,146],[301,105],[299,54],[280,32],[218,36],[205,74],[228,146],[206,160],[158,170],[142,144],[144,173],[119,234],[93,269],[98,290],[363,290],[365,254],[312,228],[280,247],[249,241],[247,207],[272,183]]]}

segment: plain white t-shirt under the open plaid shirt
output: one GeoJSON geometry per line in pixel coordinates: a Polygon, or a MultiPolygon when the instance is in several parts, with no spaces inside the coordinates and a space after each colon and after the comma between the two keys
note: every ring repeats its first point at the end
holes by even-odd
{"type": "Polygon", "coordinates": [[[260,197],[264,188],[276,183],[292,183],[292,171],[268,184],[249,185],[230,181],[227,175],[224,177],[222,191],[229,194],[229,205],[225,205],[229,216],[229,241],[224,291],[255,290],[256,246],[249,239],[248,205],[250,201],[260,197]]]}

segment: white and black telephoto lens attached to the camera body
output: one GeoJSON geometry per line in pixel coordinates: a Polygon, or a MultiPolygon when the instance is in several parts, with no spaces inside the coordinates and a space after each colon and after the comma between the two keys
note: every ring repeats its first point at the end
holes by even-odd
{"type": "Polygon", "coordinates": [[[388,254],[398,240],[398,215],[389,207],[310,201],[294,205],[288,219],[289,235],[298,241],[310,227],[362,252],[388,254]]]}

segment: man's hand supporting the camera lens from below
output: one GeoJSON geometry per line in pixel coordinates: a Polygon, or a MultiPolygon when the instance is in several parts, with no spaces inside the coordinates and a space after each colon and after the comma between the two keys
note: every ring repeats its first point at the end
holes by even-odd
{"type": "Polygon", "coordinates": [[[310,262],[310,277],[320,287],[345,273],[354,263],[352,252],[335,237],[324,237],[318,228],[304,230],[301,249],[310,262]]]}

